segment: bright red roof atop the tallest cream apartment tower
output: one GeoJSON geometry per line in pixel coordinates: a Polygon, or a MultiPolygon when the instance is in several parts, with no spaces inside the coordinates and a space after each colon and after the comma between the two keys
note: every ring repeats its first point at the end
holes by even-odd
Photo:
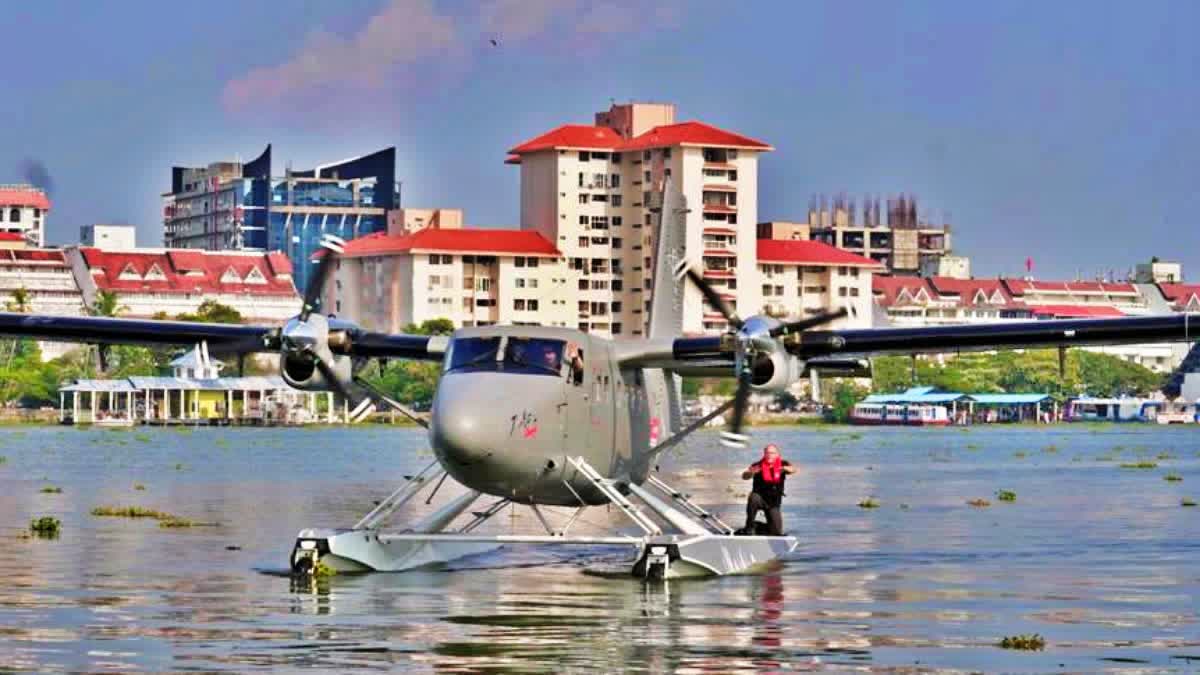
{"type": "Polygon", "coordinates": [[[773,150],[770,145],[762,141],[756,141],[749,136],[725,131],[702,121],[685,121],[656,126],[641,136],[630,139],[622,138],[619,133],[607,126],[590,126],[584,124],[564,124],[552,131],[530,138],[524,143],[509,150],[510,157],[504,160],[508,163],[520,163],[520,155],[536,153],[539,150],[553,150],[557,148],[580,148],[594,150],[644,150],[648,148],[665,148],[668,145],[715,145],[720,148],[745,148],[750,150],[773,150]],[[515,157],[516,156],[516,161],[515,157]]]}

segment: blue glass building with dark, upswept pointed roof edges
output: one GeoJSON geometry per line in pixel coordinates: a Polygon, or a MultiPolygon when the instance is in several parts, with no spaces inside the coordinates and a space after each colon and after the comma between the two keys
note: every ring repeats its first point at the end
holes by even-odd
{"type": "Polygon", "coordinates": [[[384,232],[398,202],[395,148],[276,175],[268,145],[245,163],[174,167],[163,195],[163,239],[168,249],[283,251],[304,292],[323,234],[384,232]]]}

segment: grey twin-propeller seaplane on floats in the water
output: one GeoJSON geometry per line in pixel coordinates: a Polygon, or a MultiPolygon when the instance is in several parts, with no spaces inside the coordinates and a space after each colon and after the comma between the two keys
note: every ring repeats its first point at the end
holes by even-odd
{"type": "Polygon", "coordinates": [[[1027,347],[1058,347],[1062,354],[1070,346],[1195,339],[1188,315],[863,329],[827,328],[845,310],[796,321],[742,318],[685,257],[682,193],[666,183],[654,197],[654,288],[644,339],[528,325],[470,327],[446,336],[366,330],[318,311],[344,244],[332,235],[316,257],[299,315],[282,327],[0,313],[0,335],[97,345],[203,344],[239,357],[274,353],[289,386],[335,392],[353,417],[383,404],[424,426],[433,461],[353,526],[302,530],[289,556],[298,574],[319,565],[401,572],[505,545],[590,545],[626,546],[632,575],[655,580],[746,573],[797,549],[794,536],[736,532],[656,474],[664,452],[726,412],[721,442],[733,453],[745,448],[746,407],[756,392],[782,390],[814,371],[866,376],[877,354],[1027,347]],[[679,334],[689,292],[725,316],[726,333],[679,334]],[[364,377],[373,359],[442,363],[428,418],[376,390],[364,377]],[[732,377],[736,393],[685,424],[685,376],[732,377]],[[461,484],[456,496],[386,530],[404,504],[425,491],[432,502],[448,479],[461,484]],[[586,509],[608,504],[628,519],[626,527],[605,536],[571,533],[586,509]],[[545,533],[480,530],[506,507],[530,509],[545,533]],[[572,510],[565,525],[554,527],[544,507],[572,510]]]}

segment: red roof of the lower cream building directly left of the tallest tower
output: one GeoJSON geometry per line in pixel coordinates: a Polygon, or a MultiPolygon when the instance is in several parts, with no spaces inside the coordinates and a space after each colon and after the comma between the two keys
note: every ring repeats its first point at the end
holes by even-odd
{"type": "Polygon", "coordinates": [[[558,257],[562,253],[545,237],[532,229],[442,229],[428,227],[412,234],[377,232],[346,243],[344,256],[382,256],[415,251],[448,253],[514,253],[558,257]]]}

